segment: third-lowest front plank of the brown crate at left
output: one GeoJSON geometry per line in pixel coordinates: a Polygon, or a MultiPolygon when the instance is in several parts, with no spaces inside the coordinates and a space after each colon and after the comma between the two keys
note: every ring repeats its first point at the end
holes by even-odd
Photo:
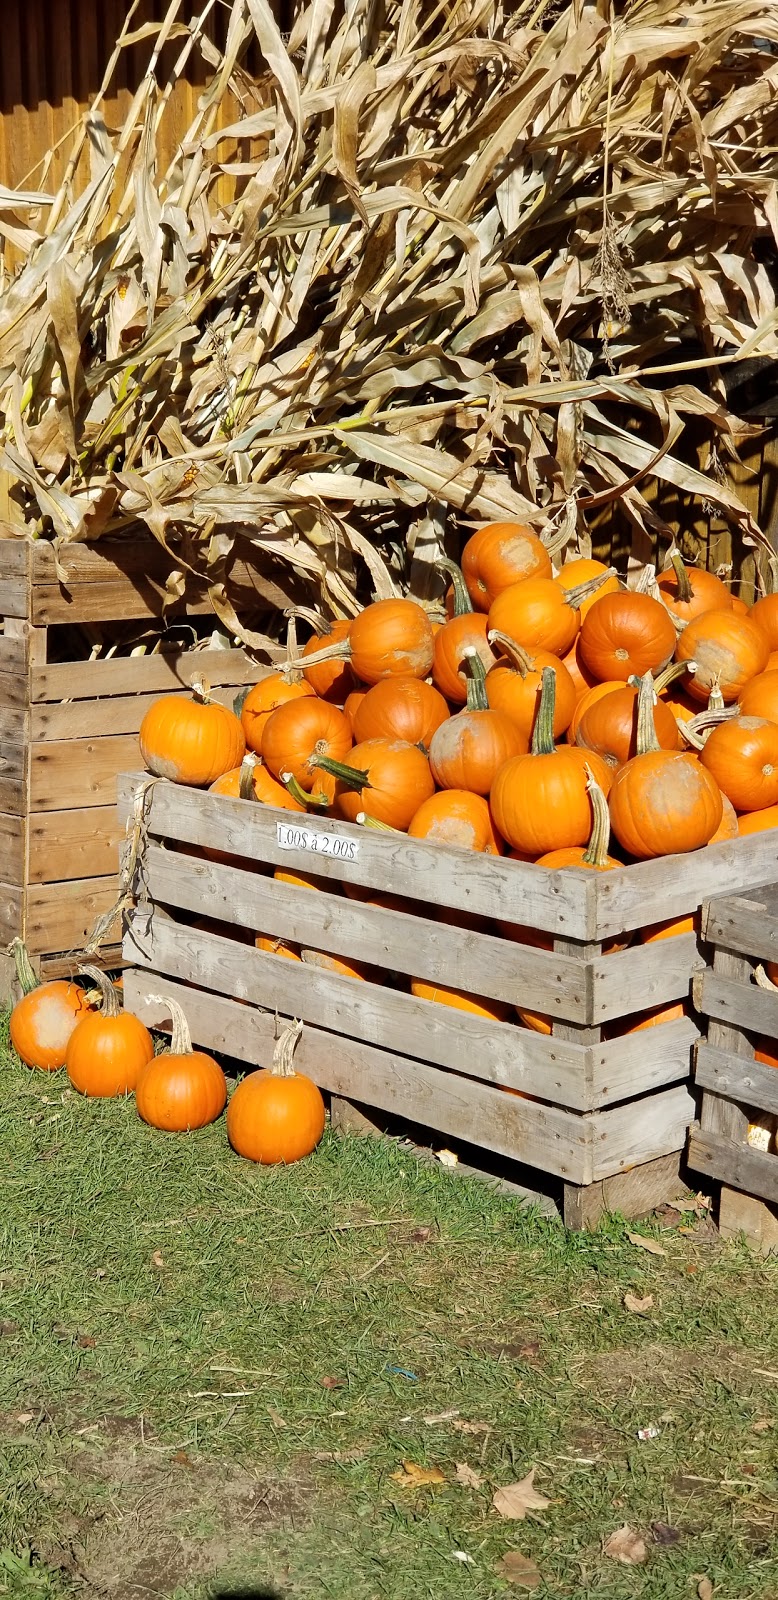
{"type": "Polygon", "coordinates": [[[139,763],[138,739],[64,739],[30,747],[30,811],[114,805],[118,773],[139,763]]]}

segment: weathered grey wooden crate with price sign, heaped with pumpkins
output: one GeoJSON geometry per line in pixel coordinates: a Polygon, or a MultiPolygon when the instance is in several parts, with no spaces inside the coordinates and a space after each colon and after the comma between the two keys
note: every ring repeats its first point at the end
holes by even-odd
{"type": "MultiPolygon", "coordinates": [[[[120,784],[126,814],[138,778],[120,784]]],[[[690,1018],[607,1037],[620,1018],[690,992],[703,966],[693,934],[604,954],[608,938],[696,910],[711,885],[759,883],[775,870],[767,835],[698,856],[610,872],[544,867],[442,850],[328,819],[303,819],[317,843],[343,840],[354,859],[285,848],[298,818],[240,800],[157,784],[150,795],[141,904],[125,936],[128,1005],[154,1022],[168,992],[200,1045],[267,1061],[274,1013],[306,1022],[299,1061],[335,1096],[395,1112],[563,1182],[570,1224],[605,1206],[637,1214],[677,1192],[693,1115],[690,1018]],[[219,840],[231,858],[202,853],[219,840]],[[186,851],[186,853],[184,853],[186,851]],[[287,886],[275,866],[315,870],[338,893],[287,886]],[[413,912],[347,899],[341,883],[387,890],[413,912]],[[448,907],[453,922],[435,910],[448,907]],[[531,925],[552,949],[472,931],[467,915],[531,925]],[[192,926],[207,918],[219,931],[192,926]],[[459,917],[459,925],[458,925],[459,917]],[[351,955],[394,986],[341,978],[240,942],[263,931],[351,955]],[[407,990],[411,976],[466,987],[552,1018],[552,1034],[483,1019],[407,990]],[[515,1090],[520,1099],[503,1093],[515,1090]],[[629,1179],[621,1174],[629,1173],[629,1179]],[[618,1187],[618,1202],[608,1186],[618,1187]]]]}

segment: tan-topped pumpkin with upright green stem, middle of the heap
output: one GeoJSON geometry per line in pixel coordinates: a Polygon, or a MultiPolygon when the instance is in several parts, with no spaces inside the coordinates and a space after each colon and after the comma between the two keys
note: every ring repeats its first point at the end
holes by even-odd
{"type": "Polygon", "coordinates": [[[488,795],[499,768],[512,755],[522,755],[528,741],[504,710],[490,710],[480,656],[469,650],[466,662],[471,675],[467,709],[435,730],[429,765],[442,789],[469,789],[472,794],[488,795]]]}

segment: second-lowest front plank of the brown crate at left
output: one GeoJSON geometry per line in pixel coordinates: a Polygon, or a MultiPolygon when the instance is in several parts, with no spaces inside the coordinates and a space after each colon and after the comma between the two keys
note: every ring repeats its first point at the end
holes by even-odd
{"type": "Polygon", "coordinates": [[[29,882],[59,883],[118,874],[123,837],[112,805],[34,811],[29,818],[29,882]]]}

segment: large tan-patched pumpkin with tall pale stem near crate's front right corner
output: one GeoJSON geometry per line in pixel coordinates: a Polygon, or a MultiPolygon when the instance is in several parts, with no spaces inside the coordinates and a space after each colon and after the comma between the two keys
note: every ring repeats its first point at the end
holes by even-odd
{"type": "Polygon", "coordinates": [[[618,770],[610,790],[610,824],[621,848],[639,861],[700,850],[716,834],[722,811],[720,789],[706,768],[692,755],[660,747],[653,725],[653,678],[644,674],[637,755],[618,770]]]}

